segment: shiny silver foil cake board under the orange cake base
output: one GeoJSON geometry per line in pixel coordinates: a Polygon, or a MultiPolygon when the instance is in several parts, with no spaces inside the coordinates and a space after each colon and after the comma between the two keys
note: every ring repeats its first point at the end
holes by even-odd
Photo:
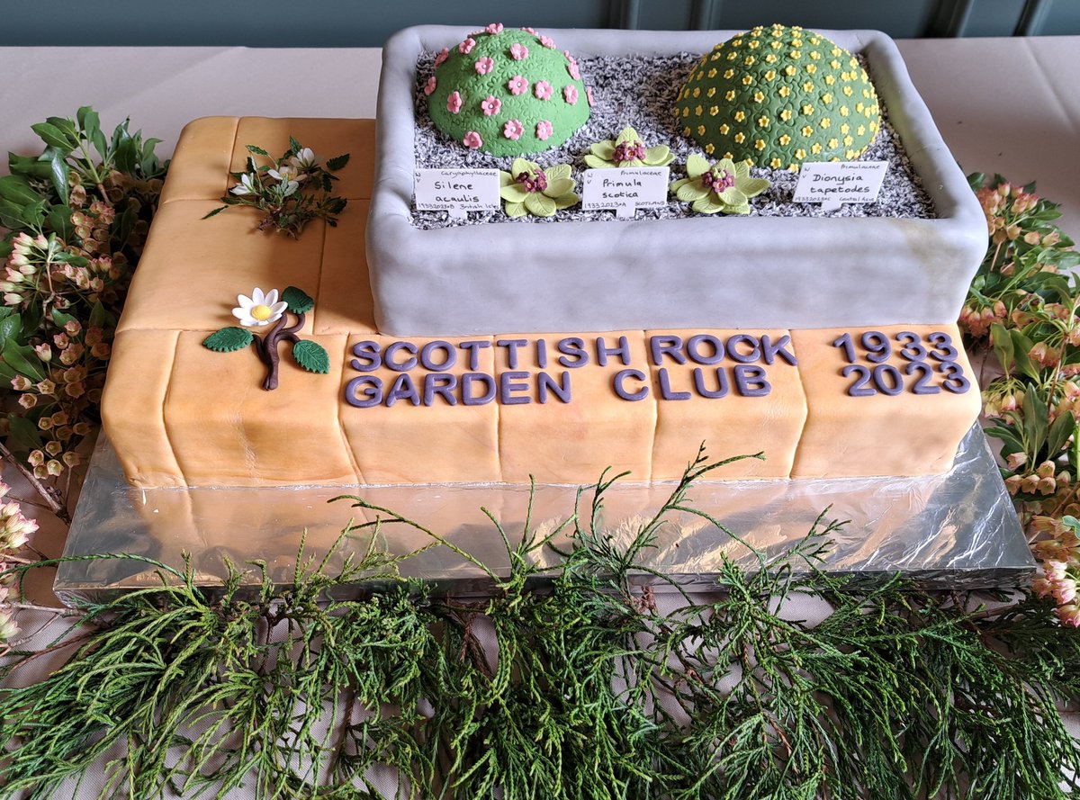
{"type": "MultiPolygon", "coordinates": [[[[712,475],[723,475],[723,467],[712,475]]],[[[600,529],[629,541],[664,504],[674,485],[616,483],[604,494],[600,529]]],[[[573,514],[590,514],[593,491],[537,485],[531,527],[552,531],[573,514]]],[[[124,482],[116,453],[98,440],[76,509],[64,555],[82,558],[125,554],[139,558],[71,560],[60,565],[56,595],[68,605],[102,600],[122,592],[160,585],[160,570],[143,559],[183,569],[185,554],[198,582],[218,585],[227,564],[261,561],[278,584],[292,582],[301,540],[308,556],[322,558],[350,524],[370,523],[370,510],[353,507],[356,496],[390,509],[471,553],[496,574],[505,574],[508,556],[494,523],[513,541],[529,514],[529,488],[511,485],[362,486],[301,488],[133,489],[124,482]],[[485,513],[485,511],[487,513],[485,513]]],[[[1026,583],[1035,562],[1005,491],[994,456],[977,425],[964,437],[953,470],[918,478],[815,480],[702,480],[688,492],[688,505],[705,512],[728,531],[689,513],[672,513],[658,530],[646,566],[693,591],[707,591],[725,558],[747,569],[759,566],[756,548],[768,557],[789,551],[825,512],[825,519],[849,520],[829,535],[833,547],[823,565],[831,573],[888,579],[897,572],[928,588],[986,588],[1026,583]],[[827,511],[826,511],[827,510],[827,511]]],[[[370,528],[347,539],[328,559],[328,569],[347,554],[360,555],[370,528]]],[[[407,554],[430,545],[423,532],[384,523],[378,546],[407,554]]],[[[562,534],[559,534],[562,535],[562,534]]],[[[538,558],[554,564],[544,550],[538,558]]],[[[490,579],[444,546],[401,562],[406,577],[434,581],[451,594],[484,594],[490,579]]],[[[259,580],[249,568],[249,582],[259,580]]],[[[643,573],[642,583],[654,582],[643,573]]],[[[662,591],[667,584],[657,583],[662,591]]],[[[670,587],[670,586],[669,586],[670,587]]],[[[364,585],[357,584],[357,591],[364,585]]]]}

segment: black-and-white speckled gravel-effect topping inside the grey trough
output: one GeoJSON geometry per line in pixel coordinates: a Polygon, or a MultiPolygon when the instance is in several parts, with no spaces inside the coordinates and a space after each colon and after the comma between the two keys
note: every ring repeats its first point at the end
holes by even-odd
{"type": "MultiPolygon", "coordinates": [[[[432,73],[435,53],[424,53],[417,60],[416,118],[417,127],[416,165],[418,168],[475,168],[510,171],[512,158],[496,158],[476,150],[469,150],[459,143],[450,141],[431,123],[428,116],[427,97],[423,86],[432,73]]],[[[870,71],[862,56],[863,66],[870,71]]],[[[570,137],[562,147],[541,153],[527,155],[542,167],[554,164],[570,164],[571,177],[581,187],[581,173],[585,164],[582,158],[590,145],[603,139],[613,139],[626,127],[637,131],[646,147],[667,145],[675,161],[671,164],[671,179],[686,177],[686,158],[698,153],[710,161],[714,157],[702,152],[698,144],[681,135],[679,123],[672,116],[675,97],[687,74],[701,58],[700,54],[679,53],[672,56],[597,56],[579,59],[582,79],[593,87],[595,105],[589,122],[570,137]]],[[[873,72],[870,78],[873,80],[873,72]]],[[[880,98],[879,98],[880,100],[880,98]]],[[[751,215],[760,217],[899,217],[933,219],[937,215],[930,196],[922,188],[900,137],[889,122],[889,112],[881,106],[881,130],[869,149],[860,161],[888,161],[881,192],[874,203],[845,203],[839,211],[823,212],[820,203],[793,203],[792,195],[798,182],[798,174],[786,170],[753,167],[754,177],[766,178],[769,189],[751,201],[751,215]]],[[[700,216],[690,211],[689,203],[680,203],[674,198],[663,208],[640,208],[636,219],[678,219],[700,216]]],[[[418,212],[413,209],[413,225],[422,230],[448,228],[451,226],[499,222],[507,225],[546,225],[559,221],[613,220],[615,211],[586,212],[580,205],[558,212],[553,217],[534,216],[511,219],[503,213],[472,212],[468,219],[448,219],[445,212],[418,212]]]]}

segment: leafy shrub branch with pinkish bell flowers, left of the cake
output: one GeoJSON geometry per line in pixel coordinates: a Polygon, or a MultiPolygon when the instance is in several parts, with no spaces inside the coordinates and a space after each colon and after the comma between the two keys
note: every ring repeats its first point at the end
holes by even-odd
{"type": "MultiPolygon", "coordinates": [[[[89,107],[32,130],[44,150],[9,154],[11,175],[0,178],[0,458],[69,523],[59,478],[99,422],[117,320],[167,164],[153,153],[158,139],[131,133],[126,120],[106,136],[89,107]]],[[[23,560],[14,554],[36,529],[17,503],[0,504],[0,572],[23,560]]],[[[0,646],[14,635],[8,591],[0,586],[0,646]]]]}

